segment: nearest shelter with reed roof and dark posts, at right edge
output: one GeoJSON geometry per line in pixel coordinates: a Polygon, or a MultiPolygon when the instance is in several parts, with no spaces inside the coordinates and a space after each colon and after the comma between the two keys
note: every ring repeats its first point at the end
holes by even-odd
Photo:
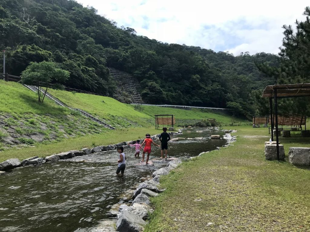
{"type": "Polygon", "coordinates": [[[273,129],[276,127],[276,141],[277,141],[277,160],[279,157],[279,131],[278,131],[278,98],[288,97],[310,97],[310,83],[307,84],[276,84],[268,85],[263,91],[262,97],[269,98],[270,104],[270,118],[272,118],[272,98],[274,99],[274,111],[275,111],[275,125],[271,120],[271,140],[273,141],[273,129]]]}

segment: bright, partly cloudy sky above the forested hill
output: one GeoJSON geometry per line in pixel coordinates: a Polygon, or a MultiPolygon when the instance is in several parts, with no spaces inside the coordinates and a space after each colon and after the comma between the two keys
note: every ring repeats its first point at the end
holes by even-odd
{"type": "Polygon", "coordinates": [[[205,49],[278,54],[282,26],[304,20],[309,1],[275,0],[77,0],[118,27],[164,43],[205,49]]]}

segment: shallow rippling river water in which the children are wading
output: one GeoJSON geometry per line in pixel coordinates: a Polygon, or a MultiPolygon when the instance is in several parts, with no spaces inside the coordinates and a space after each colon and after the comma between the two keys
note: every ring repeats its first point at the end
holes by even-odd
{"type": "MultiPolygon", "coordinates": [[[[211,140],[207,128],[191,128],[175,137],[186,138],[168,144],[168,156],[197,156],[225,144],[211,140]],[[196,132],[200,131],[200,132],[196,132]],[[187,139],[203,137],[203,139],[187,139]]],[[[155,140],[160,144],[159,140],[155,140]]],[[[49,232],[91,231],[105,220],[115,220],[109,210],[113,204],[128,203],[126,192],[143,182],[142,177],[166,166],[137,165],[134,148],[125,148],[126,170],[117,177],[117,151],[93,153],[55,163],[16,168],[0,175],[0,231],[49,232]]],[[[33,154],[36,155],[36,154],[33,154]]],[[[152,147],[150,159],[160,157],[160,148],[152,147]]]]}

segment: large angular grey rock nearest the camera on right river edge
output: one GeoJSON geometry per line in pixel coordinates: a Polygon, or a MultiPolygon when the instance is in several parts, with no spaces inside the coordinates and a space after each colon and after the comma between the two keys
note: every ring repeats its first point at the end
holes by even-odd
{"type": "Polygon", "coordinates": [[[123,210],[116,222],[116,230],[120,232],[140,232],[147,223],[138,215],[123,210]]]}

